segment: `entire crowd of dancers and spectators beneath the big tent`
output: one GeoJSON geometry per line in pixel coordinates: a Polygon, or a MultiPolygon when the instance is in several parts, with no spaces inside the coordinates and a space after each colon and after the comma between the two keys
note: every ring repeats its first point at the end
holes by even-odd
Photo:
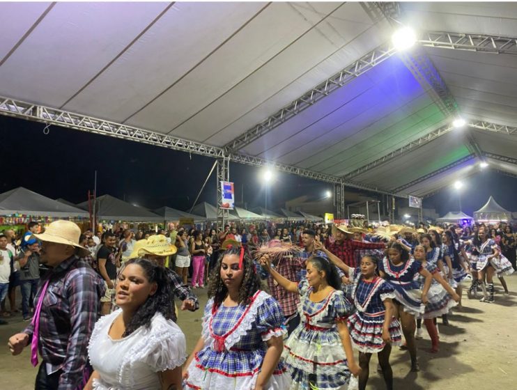
{"type": "Polygon", "coordinates": [[[436,353],[437,319],[462,309],[463,284],[492,303],[493,276],[508,293],[515,269],[508,224],[82,233],[55,221],[0,234],[3,315],[20,286],[30,321],[9,348],[43,359],[36,389],[365,389],[372,354],[393,389],[394,346],[418,371],[422,322],[436,353]],[[196,311],[200,292],[187,351],[174,299],[196,311]]]}

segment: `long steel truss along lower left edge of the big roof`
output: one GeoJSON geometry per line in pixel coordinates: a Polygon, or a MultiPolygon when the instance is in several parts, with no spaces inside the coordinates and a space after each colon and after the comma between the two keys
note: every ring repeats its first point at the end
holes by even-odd
{"type": "Polygon", "coordinates": [[[297,166],[270,162],[259,157],[243,155],[240,153],[227,153],[224,148],[219,148],[217,146],[210,146],[195,141],[189,141],[187,139],[171,137],[151,130],[121,125],[120,123],[110,122],[109,120],[75,114],[60,109],[43,107],[38,104],[21,102],[20,100],[0,97],[0,114],[26,120],[35,120],[47,125],[58,125],[93,134],[116,137],[119,139],[128,139],[130,141],[137,141],[140,143],[148,143],[153,146],[161,146],[162,148],[180,150],[216,159],[226,158],[229,159],[229,161],[238,162],[240,164],[270,166],[278,171],[292,173],[305,178],[311,178],[323,182],[343,183],[347,187],[364,189],[366,191],[378,192],[380,194],[389,194],[401,198],[408,197],[406,194],[395,194],[394,192],[389,192],[385,189],[379,189],[378,187],[364,185],[358,182],[347,181],[337,176],[310,171],[309,169],[302,169],[297,166]]]}

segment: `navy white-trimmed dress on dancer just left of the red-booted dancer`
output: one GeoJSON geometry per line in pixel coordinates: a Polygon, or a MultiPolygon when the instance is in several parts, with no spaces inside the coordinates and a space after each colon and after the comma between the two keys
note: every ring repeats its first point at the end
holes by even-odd
{"type": "Polygon", "coordinates": [[[394,288],[396,302],[403,306],[406,313],[412,315],[424,313],[425,310],[422,304],[422,290],[415,280],[420,270],[422,265],[413,258],[401,265],[393,265],[387,257],[379,262],[379,271],[384,272],[385,279],[394,288]]]}

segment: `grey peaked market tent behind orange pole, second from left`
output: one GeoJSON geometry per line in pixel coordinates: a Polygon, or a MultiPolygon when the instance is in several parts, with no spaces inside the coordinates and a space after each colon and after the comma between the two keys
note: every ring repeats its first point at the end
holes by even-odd
{"type": "MultiPolygon", "coordinates": [[[[163,222],[163,218],[154,212],[111,195],[98,196],[95,203],[98,221],[163,222]]],[[[88,201],[79,203],[77,206],[88,210],[88,201]]]]}

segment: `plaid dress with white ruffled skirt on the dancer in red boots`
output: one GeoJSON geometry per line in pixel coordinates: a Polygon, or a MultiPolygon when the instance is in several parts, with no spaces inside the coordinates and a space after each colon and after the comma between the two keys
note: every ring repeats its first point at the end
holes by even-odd
{"type": "MultiPolygon", "coordinates": [[[[419,261],[417,261],[417,263],[421,264],[419,261]]],[[[435,264],[429,262],[426,262],[425,269],[433,275],[440,272],[435,264]]],[[[426,278],[418,274],[417,282],[421,289],[424,288],[425,281],[426,278]]],[[[428,302],[424,313],[419,313],[417,318],[437,318],[443,314],[449,313],[449,309],[456,306],[456,302],[454,302],[451,295],[449,295],[449,292],[447,292],[447,290],[445,290],[438,281],[435,281],[435,279],[433,279],[429,292],[427,292],[427,299],[428,302]]]]}

